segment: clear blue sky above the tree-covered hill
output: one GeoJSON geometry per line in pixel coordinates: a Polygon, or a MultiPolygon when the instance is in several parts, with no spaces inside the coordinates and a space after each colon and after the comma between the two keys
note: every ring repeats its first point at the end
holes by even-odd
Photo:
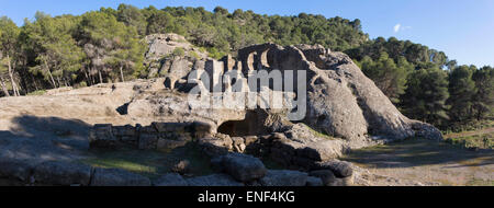
{"type": "Polygon", "coordinates": [[[81,14],[101,7],[130,3],[155,5],[216,5],[233,12],[252,10],[261,14],[294,15],[301,12],[360,19],[372,38],[395,36],[445,51],[462,65],[494,66],[493,0],[0,0],[0,15],[18,24],[36,11],[52,15],[81,14]]]}

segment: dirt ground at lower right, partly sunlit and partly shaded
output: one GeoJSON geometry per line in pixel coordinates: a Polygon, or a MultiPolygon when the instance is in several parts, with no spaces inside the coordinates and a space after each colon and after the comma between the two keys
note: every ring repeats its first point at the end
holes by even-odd
{"type": "Polygon", "coordinates": [[[409,139],[355,150],[341,160],[368,170],[368,185],[494,186],[494,151],[409,139]]]}

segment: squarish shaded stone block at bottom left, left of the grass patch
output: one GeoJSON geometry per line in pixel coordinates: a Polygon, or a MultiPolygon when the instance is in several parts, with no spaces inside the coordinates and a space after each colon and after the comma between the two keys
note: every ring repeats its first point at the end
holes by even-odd
{"type": "Polygon", "coordinates": [[[61,161],[48,161],[38,164],[34,169],[33,177],[36,183],[50,185],[87,186],[91,178],[91,166],[80,163],[61,161]]]}

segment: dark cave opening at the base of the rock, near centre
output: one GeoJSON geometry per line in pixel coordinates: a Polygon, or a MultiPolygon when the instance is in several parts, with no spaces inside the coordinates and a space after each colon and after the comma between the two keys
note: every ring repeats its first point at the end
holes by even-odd
{"type": "Polygon", "coordinates": [[[265,116],[260,113],[249,111],[247,112],[244,120],[225,122],[217,128],[217,132],[228,135],[231,137],[258,136],[268,131],[265,126],[265,116]]]}

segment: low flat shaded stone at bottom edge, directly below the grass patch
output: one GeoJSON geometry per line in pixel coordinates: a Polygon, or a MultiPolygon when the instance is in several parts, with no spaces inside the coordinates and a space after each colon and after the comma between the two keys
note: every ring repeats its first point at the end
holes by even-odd
{"type": "Polygon", "coordinates": [[[149,178],[120,169],[96,169],[91,186],[150,186],[149,178]]]}

